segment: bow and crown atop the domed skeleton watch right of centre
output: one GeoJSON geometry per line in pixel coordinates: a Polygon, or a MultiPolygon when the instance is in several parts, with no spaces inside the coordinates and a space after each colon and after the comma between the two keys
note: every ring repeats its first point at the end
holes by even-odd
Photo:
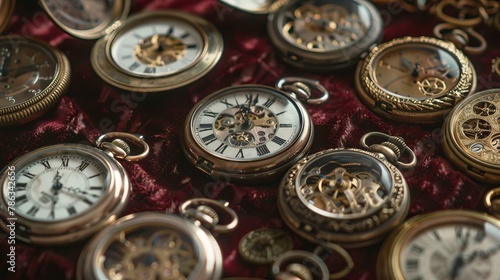
{"type": "Polygon", "coordinates": [[[417,164],[415,153],[406,145],[402,137],[391,136],[381,132],[368,132],[359,140],[361,147],[365,150],[376,152],[383,155],[388,161],[396,165],[398,168],[410,169],[417,164]],[[368,138],[380,138],[384,141],[380,144],[372,144],[368,146],[366,141],[368,138]],[[409,162],[404,163],[399,158],[405,154],[409,155],[409,162]]]}

